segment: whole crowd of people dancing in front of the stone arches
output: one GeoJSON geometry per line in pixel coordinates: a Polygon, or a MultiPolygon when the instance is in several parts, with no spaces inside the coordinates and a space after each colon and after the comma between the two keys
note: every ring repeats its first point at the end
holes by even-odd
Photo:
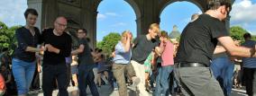
{"type": "Polygon", "coordinates": [[[44,96],[58,89],[59,96],[69,96],[70,85],[78,86],[79,96],[87,96],[87,86],[99,96],[103,84],[117,88],[120,96],[129,95],[127,85],[140,96],[230,96],[232,88],[244,85],[254,96],[256,41],[250,33],[243,35],[242,44],[229,36],[224,20],[230,2],[215,0],[207,8],[192,15],[179,43],[152,23],[147,34],[134,40],[131,31],[123,31],[109,56],[89,46],[84,28],[77,29],[78,47],[72,47],[64,16],[40,32],[34,26],[38,13],[28,8],[26,25],[15,32],[18,46],[13,56],[8,48],[0,54],[0,96],[26,96],[32,89],[42,90],[44,96]]]}

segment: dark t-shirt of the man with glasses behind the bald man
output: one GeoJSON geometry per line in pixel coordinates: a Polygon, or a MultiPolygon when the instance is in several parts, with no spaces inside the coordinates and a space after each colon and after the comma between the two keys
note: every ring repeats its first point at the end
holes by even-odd
{"type": "Polygon", "coordinates": [[[95,63],[87,39],[79,39],[79,45],[84,45],[85,48],[83,53],[78,54],[78,64],[87,65],[88,69],[92,69],[95,63]]]}

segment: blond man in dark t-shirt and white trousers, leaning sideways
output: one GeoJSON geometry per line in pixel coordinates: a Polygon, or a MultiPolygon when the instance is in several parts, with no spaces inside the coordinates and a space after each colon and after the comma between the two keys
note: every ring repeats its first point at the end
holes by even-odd
{"type": "Polygon", "coordinates": [[[160,33],[160,26],[157,23],[152,23],[149,29],[149,33],[146,35],[138,36],[133,41],[132,51],[132,65],[137,77],[141,79],[138,84],[140,96],[148,96],[149,93],[145,90],[145,67],[144,61],[151,54],[152,50],[160,53],[160,39],[157,35],[160,33]]]}

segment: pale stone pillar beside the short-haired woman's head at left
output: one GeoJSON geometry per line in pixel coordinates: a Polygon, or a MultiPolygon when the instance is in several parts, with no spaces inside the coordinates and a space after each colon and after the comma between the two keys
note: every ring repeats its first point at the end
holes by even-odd
{"type": "Polygon", "coordinates": [[[28,8],[33,8],[37,11],[38,17],[35,26],[41,30],[41,11],[42,11],[42,0],[28,0],[28,8]]]}

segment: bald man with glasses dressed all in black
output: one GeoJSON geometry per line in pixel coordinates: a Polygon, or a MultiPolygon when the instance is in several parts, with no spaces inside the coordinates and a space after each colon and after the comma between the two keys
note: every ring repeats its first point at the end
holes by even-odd
{"type": "Polygon", "coordinates": [[[67,91],[67,65],[65,57],[70,56],[71,37],[65,32],[67,19],[58,17],[54,22],[54,29],[46,29],[41,33],[41,39],[46,51],[42,64],[42,91],[44,96],[51,96],[52,83],[57,79],[59,96],[69,96],[67,91]]]}

